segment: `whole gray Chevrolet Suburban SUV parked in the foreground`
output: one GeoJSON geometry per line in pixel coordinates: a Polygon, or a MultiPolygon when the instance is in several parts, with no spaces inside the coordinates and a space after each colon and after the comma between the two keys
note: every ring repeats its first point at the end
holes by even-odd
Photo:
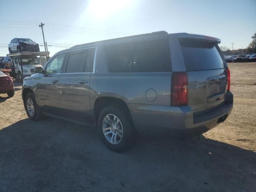
{"type": "Polygon", "coordinates": [[[22,98],[31,120],[45,115],[96,125],[120,152],[139,134],[201,134],[233,107],[220,40],[152,32],[74,46],[26,77],[22,98]]]}

